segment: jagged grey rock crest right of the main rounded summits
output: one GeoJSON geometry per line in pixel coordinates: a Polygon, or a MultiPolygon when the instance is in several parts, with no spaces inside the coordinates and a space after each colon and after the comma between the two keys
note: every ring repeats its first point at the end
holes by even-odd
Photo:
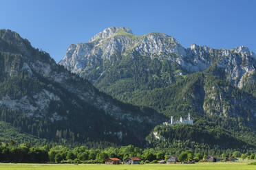
{"type": "Polygon", "coordinates": [[[216,64],[218,68],[224,69],[226,80],[238,88],[242,88],[247,81],[256,81],[253,78],[253,75],[255,75],[256,56],[247,47],[212,49],[206,46],[192,45],[191,56],[193,56],[195,63],[201,65],[200,71],[204,71],[213,64],[216,64]]]}

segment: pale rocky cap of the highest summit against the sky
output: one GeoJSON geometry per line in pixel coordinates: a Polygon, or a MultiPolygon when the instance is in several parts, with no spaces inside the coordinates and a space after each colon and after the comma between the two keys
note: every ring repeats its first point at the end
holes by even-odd
{"type": "Polygon", "coordinates": [[[89,40],[89,42],[92,42],[97,39],[109,38],[111,36],[114,36],[114,34],[117,34],[118,32],[126,32],[128,34],[133,34],[129,27],[108,27],[104,29],[103,32],[99,32],[98,34],[96,34],[93,38],[89,40]]]}

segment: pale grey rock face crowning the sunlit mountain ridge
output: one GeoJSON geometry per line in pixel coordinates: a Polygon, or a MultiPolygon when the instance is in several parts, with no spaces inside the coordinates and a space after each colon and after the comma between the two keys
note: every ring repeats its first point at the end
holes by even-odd
{"type": "Polygon", "coordinates": [[[164,58],[176,62],[189,73],[216,65],[225,70],[226,80],[238,88],[242,88],[246,82],[255,82],[256,56],[247,47],[213,49],[193,44],[185,49],[175,38],[166,34],[152,32],[136,36],[127,27],[109,27],[87,43],[70,45],[59,64],[72,73],[83,73],[85,77],[98,68],[100,77],[105,71],[105,62],[120,60],[120,56],[130,52],[151,60],[164,58]]]}

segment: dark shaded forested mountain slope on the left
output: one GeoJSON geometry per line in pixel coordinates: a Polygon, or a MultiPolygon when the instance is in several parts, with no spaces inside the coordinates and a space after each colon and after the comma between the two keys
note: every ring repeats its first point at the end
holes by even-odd
{"type": "Polygon", "coordinates": [[[0,65],[0,121],[22,133],[59,143],[143,145],[164,120],[99,92],[8,29],[0,29],[0,65]]]}

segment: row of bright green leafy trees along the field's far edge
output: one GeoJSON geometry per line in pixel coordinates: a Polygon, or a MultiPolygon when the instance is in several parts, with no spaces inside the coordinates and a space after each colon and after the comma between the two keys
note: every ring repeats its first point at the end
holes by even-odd
{"type": "MultiPolygon", "coordinates": [[[[141,149],[133,145],[122,147],[107,147],[105,149],[89,149],[86,146],[68,148],[63,145],[32,146],[29,143],[16,145],[14,141],[1,143],[0,162],[56,162],[56,163],[104,163],[109,157],[125,160],[127,157],[138,157],[142,163],[155,163],[167,160],[169,156],[178,156],[179,161],[195,161],[206,159],[206,153],[195,150],[177,150],[172,154],[168,149],[141,149]]],[[[241,153],[240,151],[225,151],[219,155],[224,158],[256,159],[256,153],[241,153]]]]}

